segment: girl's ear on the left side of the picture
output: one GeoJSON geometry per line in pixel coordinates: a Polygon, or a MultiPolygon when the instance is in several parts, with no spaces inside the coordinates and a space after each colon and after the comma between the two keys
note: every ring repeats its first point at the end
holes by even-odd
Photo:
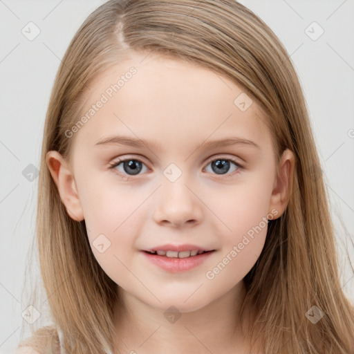
{"type": "Polygon", "coordinates": [[[46,162],[68,216],[75,221],[84,220],[75,179],[68,163],[58,151],[48,151],[46,162]]]}

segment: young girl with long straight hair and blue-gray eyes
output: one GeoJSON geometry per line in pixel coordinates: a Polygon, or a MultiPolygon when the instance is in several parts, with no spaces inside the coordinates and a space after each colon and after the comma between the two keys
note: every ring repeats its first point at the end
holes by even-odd
{"type": "Polygon", "coordinates": [[[53,326],[19,353],[354,353],[301,86],[234,0],[111,0],[50,97],[53,326]]]}

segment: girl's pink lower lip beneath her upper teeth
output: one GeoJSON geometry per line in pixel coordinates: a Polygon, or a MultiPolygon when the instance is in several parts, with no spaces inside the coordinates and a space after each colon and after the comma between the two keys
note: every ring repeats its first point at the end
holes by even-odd
{"type": "Polygon", "coordinates": [[[150,254],[148,252],[142,251],[145,254],[145,257],[149,259],[152,263],[155,263],[160,268],[165,269],[169,272],[185,272],[187,270],[191,270],[196,266],[203,263],[207,258],[211,256],[214,251],[206,252],[202,254],[197,254],[192,257],[185,258],[169,258],[165,256],[158,256],[157,254],[150,254]]]}

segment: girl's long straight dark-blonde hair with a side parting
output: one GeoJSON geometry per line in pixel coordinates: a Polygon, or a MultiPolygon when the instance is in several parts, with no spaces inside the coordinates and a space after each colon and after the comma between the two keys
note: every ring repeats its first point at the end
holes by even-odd
{"type": "MultiPolygon", "coordinates": [[[[46,115],[36,229],[50,315],[65,348],[75,354],[112,348],[119,299],[91,252],[85,222],[66,213],[46,153],[70,156],[65,131],[77,120],[83,93],[127,50],[209,68],[259,104],[277,161],[286,148],[295,154],[294,183],[286,212],[269,222],[263,251],[244,279],[243,308],[257,309],[253,334],[263,333],[265,354],[353,352],[354,310],[339,283],[328,196],[297,74],[274,32],[234,0],[111,0],[84,21],[66,50],[46,115]],[[312,306],[324,314],[316,324],[306,317],[312,306]]],[[[50,353],[55,327],[37,330],[21,345],[50,353]]]]}

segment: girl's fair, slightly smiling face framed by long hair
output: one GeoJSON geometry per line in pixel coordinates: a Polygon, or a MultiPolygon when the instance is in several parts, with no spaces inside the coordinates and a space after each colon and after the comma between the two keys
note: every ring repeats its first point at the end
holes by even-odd
{"type": "Polygon", "coordinates": [[[157,55],[143,58],[132,54],[93,83],[77,118],[94,113],[67,133],[75,138],[73,160],[57,185],[71,217],[85,219],[98,263],[123,292],[163,310],[196,310],[232,290],[259,258],[266,219],[286,207],[291,156],[283,156],[284,178],[277,179],[264,118],[231,80],[157,55]],[[132,67],[136,72],[127,74],[132,67]],[[111,85],[122,75],[115,92],[111,85]],[[151,145],[97,145],[115,136],[151,145]],[[205,147],[236,137],[257,146],[205,147]],[[118,158],[128,160],[125,166],[110,168],[118,158]],[[187,243],[214,251],[183,259],[185,270],[163,268],[153,261],[163,256],[145,252],[187,243]],[[203,261],[192,267],[193,257],[203,261]]]}

